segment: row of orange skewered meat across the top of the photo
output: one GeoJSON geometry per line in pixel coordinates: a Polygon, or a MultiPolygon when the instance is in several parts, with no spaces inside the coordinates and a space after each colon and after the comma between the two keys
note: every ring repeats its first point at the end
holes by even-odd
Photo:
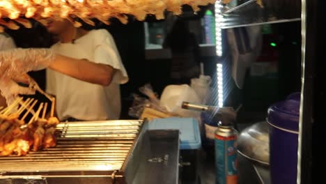
{"type": "MultiPolygon", "coordinates": [[[[215,3],[216,0],[0,0],[0,18],[8,17],[10,20],[30,27],[30,24],[20,18],[33,18],[42,20],[52,18],[54,20],[68,19],[72,22],[72,17],[78,17],[87,24],[93,25],[92,18],[98,19],[105,24],[109,24],[111,17],[127,23],[126,15],[134,15],[137,20],[144,20],[146,15],[155,15],[158,20],[164,18],[166,10],[180,15],[181,6],[187,4],[194,11],[199,10],[199,6],[208,3],[215,3]]],[[[0,21],[0,26],[9,29],[19,29],[15,22],[0,21]]],[[[79,22],[74,23],[80,26],[79,22]]],[[[1,27],[3,30],[3,27],[1,27]]]]}

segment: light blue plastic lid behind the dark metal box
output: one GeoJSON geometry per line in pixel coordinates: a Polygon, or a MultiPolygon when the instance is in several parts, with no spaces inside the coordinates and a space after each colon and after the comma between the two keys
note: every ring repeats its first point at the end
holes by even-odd
{"type": "Polygon", "coordinates": [[[201,148],[201,135],[199,123],[194,118],[160,118],[148,123],[150,130],[179,130],[180,149],[201,148]]]}

